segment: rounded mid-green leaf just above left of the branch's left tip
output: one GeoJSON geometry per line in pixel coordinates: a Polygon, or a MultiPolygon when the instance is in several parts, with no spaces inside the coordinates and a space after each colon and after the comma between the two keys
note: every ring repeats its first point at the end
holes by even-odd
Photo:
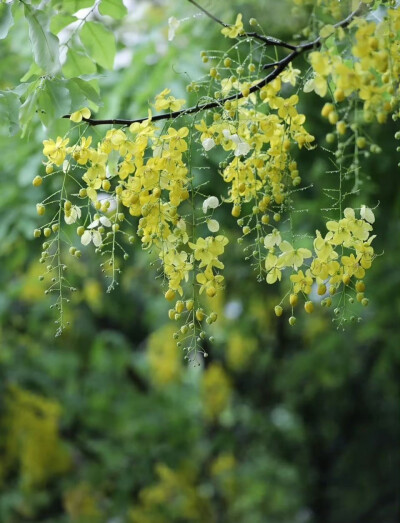
{"type": "Polygon", "coordinates": [[[57,118],[69,113],[71,97],[63,80],[45,80],[38,97],[39,116],[48,126],[57,118]]]}

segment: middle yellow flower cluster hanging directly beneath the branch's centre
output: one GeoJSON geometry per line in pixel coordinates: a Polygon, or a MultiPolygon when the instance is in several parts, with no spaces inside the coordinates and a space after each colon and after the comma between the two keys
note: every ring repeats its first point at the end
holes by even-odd
{"type": "MultiPolygon", "coordinates": [[[[299,149],[310,148],[314,137],[303,126],[305,116],[297,112],[298,96],[278,96],[281,86],[278,77],[257,95],[226,102],[225,115],[210,126],[204,120],[196,125],[206,151],[219,145],[233,153],[222,176],[229,184],[227,201],[233,203],[232,215],[236,218],[241,214],[242,203],[252,200],[259,202],[259,211],[266,211],[270,202],[280,208],[288,185],[300,183],[297,169],[292,169],[294,176],[287,176],[289,150],[292,143],[299,149]],[[257,110],[258,104],[265,112],[257,110]],[[234,123],[231,118],[235,118],[234,123]]],[[[233,83],[226,94],[235,88],[241,90],[243,85],[233,83]]]]}

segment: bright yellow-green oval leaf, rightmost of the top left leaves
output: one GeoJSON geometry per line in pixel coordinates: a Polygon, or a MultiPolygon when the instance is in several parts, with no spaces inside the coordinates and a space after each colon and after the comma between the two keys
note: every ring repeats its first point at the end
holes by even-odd
{"type": "Polygon", "coordinates": [[[112,69],[115,57],[114,35],[98,22],[86,22],[80,32],[83,46],[93,60],[104,67],[112,69]]]}

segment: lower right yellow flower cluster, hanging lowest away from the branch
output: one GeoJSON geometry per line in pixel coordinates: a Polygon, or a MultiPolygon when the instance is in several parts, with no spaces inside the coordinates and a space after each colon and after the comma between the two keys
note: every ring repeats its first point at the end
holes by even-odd
{"type": "MultiPolygon", "coordinates": [[[[268,251],[265,260],[267,282],[272,284],[280,281],[285,270],[291,272],[289,304],[292,307],[292,322],[295,319],[293,307],[297,305],[299,295],[305,298],[306,312],[311,313],[314,310],[309,298],[314,286],[323,306],[330,307],[331,296],[340,290],[340,301],[343,304],[346,297],[354,300],[351,297],[353,292],[358,302],[368,305],[362,279],[375,258],[371,245],[375,236],[370,235],[374,221],[372,210],[365,205],[361,207],[360,218],[356,218],[354,209],[346,208],[342,219],[326,223],[328,232],[325,236],[316,231],[313,240],[314,254],[304,247],[294,248],[291,243],[282,239],[277,229],[264,238],[264,247],[268,251]]],[[[283,312],[282,302],[275,307],[277,316],[283,312]]],[[[337,310],[340,312],[340,309],[337,310]]]]}

